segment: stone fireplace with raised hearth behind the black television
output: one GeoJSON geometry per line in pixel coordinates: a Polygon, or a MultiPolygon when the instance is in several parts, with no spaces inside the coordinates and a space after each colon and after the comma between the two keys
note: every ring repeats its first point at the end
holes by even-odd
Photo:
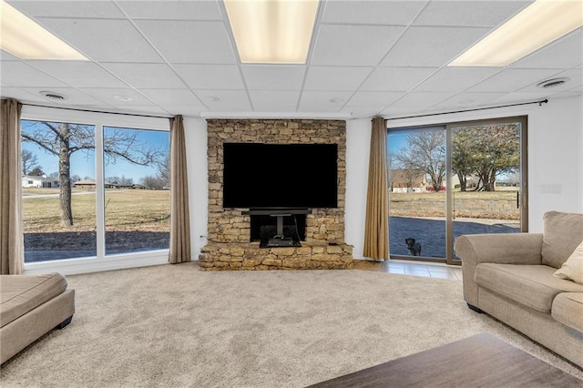
{"type": "Polygon", "coordinates": [[[202,270],[352,268],[352,246],[344,243],[346,131],[343,120],[209,119],[207,126],[209,242],[199,256],[202,270]],[[265,236],[271,234],[273,227],[277,230],[277,217],[252,214],[250,209],[223,209],[223,142],[336,144],[338,207],[307,209],[304,214],[283,217],[283,230],[291,235],[297,233],[302,246],[260,248],[261,232],[265,236]]]}

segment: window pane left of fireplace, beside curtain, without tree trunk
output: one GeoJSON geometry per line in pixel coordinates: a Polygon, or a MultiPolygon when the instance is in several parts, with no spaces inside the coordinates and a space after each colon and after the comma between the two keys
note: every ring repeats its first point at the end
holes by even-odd
{"type": "Polygon", "coordinates": [[[106,127],[104,138],[106,254],[169,248],[169,133],[106,127]]]}

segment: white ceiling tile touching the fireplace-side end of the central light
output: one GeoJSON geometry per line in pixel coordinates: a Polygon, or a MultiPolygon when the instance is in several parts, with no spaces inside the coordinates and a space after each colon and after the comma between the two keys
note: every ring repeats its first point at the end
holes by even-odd
{"type": "Polygon", "coordinates": [[[250,90],[300,90],[305,66],[242,65],[250,90]]]}

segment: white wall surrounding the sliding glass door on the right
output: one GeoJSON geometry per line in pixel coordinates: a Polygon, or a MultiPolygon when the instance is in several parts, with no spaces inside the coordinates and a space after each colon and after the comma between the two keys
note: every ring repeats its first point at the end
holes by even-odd
{"type": "MultiPolygon", "coordinates": [[[[504,107],[435,117],[388,120],[389,128],[413,127],[493,117],[528,117],[528,229],[542,231],[548,210],[583,213],[583,99],[551,99],[542,106],[504,107]]],[[[371,136],[370,119],[346,128],[346,242],[363,257],[363,228],[371,136]]]]}

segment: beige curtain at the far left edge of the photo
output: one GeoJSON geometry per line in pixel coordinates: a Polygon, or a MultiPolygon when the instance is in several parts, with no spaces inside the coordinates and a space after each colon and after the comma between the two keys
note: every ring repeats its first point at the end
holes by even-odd
{"type": "Polygon", "coordinates": [[[0,112],[0,273],[25,271],[20,175],[20,111],[15,99],[3,99],[0,112]]]}

